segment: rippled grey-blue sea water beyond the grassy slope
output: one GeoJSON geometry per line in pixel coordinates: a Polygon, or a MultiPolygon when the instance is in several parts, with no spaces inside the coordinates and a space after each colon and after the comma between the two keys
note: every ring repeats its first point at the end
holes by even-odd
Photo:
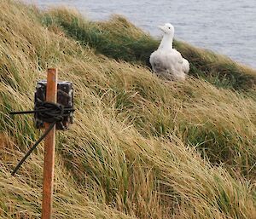
{"type": "Polygon", "coordinates": [[[256,0],[25,0],[47,9],[66,5],[91,20],[123,14],[154,37],[157,26],[170,22],[175,37],[212,49],[256,68],[256,0]]]}

